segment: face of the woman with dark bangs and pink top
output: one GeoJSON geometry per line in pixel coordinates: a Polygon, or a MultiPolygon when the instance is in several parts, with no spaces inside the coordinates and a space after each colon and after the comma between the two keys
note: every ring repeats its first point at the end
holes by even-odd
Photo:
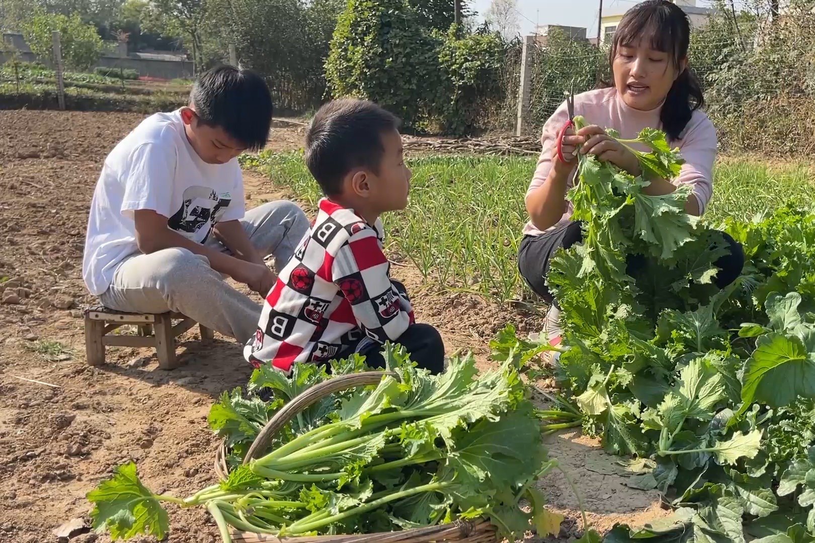
{"type": "Polygon", "coordinates": [[[612,63],[617,92],[628,107],[648,111],[659,107],[686,61],[676,67],[672,56],[651,48],[650,40],[620,44],[612,63]]]}

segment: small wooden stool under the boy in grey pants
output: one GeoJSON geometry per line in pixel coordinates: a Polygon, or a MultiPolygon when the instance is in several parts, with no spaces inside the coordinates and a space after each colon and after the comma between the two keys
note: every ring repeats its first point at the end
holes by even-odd
{"type": "MultiPolygon", "coordinates": [[[[196,326],[192,318],[181,313],[123,313],[103,306],[90,307],[85,310],[85,350],[89,366],[104,365],[104,348],[108,345],[117,347],[155,347],[158,366],[162,370],[178,367],[175,358],[175,338],[196,326]],[[181,320],[173,326],[172,319],[181,320]],[[122,325],[135,324],[139,335],[111,335],[122,325]]],[[[213,331],[199,325],[201,342],[214,339],[213,331]]]]}

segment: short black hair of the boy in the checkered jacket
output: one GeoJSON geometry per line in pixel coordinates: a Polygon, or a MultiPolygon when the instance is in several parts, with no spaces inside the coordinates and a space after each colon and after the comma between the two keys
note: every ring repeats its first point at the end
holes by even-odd
{"type": "Polygon", "coordinates": [[[351,169],[376,172],[385,152],[382,134],[399,124],[393,113],[368,100],[338,99],[320,107],[306,134],[306,166],[325,195],[340,195],[351,169]]]}

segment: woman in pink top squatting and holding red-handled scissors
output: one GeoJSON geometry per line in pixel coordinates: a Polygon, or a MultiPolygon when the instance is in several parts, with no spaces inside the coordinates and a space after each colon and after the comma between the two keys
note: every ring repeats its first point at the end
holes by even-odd
{"type": "MultiPolygon", "coordinates": [[[[575,115],[595,125],[568,131],[562,154],[557,157],[557,132],[566,120],[566,105],[551,116],[543,130],[543,151],[535,175],[526,192],[530,221],[518,254],[518,268],[535,293],[550,304],[544,333],[551,344],[560,343],[560,310],[546,287],[549,261],[558,247],[571,247],[582,239],[578,222],[571,221],[571,203],[566,190],[575,182],[580,153],[615,164],[637,176],[637,157],[604,128],[619,131],[622,138],[636,138],[646,127],[661,129],[672,146],[679,147],[685,159],[674,179],[652,179],[643,192],[666,195],[679,185],[690,185],[692,194],[685,212],[701,215],[712,194],[712,170],[716,160],[716,129],[700,111],[703,94],[699,82],[688,69],[690,25],[680,7],[667,0],[646,0],[626,12],[615,33],[609,62],[613,85],[575,96],[575,115]]],[[[730,254],[716,262],[720,272],[716,285],[726,287],[742,272],[742,247],[725,234],[730,254]]]]}

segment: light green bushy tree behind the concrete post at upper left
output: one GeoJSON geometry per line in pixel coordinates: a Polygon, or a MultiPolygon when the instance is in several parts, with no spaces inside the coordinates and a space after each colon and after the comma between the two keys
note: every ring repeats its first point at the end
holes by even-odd
{"type": "Polygon", "coordinates": [[[39,11],[23,23],[25,41],[31,50],[43,59],[53,55],[52,33],[59,31],[62,59],[70,68],[88,70],[102,55],[102,38],[93,24],[82,22],[78,14],[62,15],[39,11]]]}

